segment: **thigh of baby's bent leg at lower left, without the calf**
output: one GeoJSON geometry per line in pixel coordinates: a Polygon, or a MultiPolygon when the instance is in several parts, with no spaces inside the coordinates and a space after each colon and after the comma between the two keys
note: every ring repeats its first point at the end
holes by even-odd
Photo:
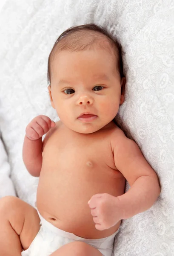
{"type": "Polygon", "coordinates": [[[14,196],[0,199],[0,221],[8,220],[19,235],[24,250],[28,249],[40,229],[37,210],[14,196]]]}

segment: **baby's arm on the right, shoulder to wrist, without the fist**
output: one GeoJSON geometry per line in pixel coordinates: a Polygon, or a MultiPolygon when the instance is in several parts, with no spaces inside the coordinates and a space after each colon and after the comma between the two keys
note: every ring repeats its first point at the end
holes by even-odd
{"type": "Polygon", "coordinates": [[[114,147],[114,161],[131,186],[128,192],[117,197],[122,218],[131,218],[149,209],[157,200],[160,195],[159,180],[138,145],[129,140],[122,131],[114,147]]]}

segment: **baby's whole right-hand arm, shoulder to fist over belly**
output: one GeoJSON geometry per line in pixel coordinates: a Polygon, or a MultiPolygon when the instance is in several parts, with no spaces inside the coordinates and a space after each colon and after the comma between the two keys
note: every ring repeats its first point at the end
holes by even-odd
{"type": "Polygon", "coordinates": [[[107,193],[91,197],[88,205],[97,230],[108,229],[122,219],[144,212],[160,195],[158,177],[133,140],[129,140],[119,129],[111,147],[115,166],[131,188],[117,197],[107,193]]]}

